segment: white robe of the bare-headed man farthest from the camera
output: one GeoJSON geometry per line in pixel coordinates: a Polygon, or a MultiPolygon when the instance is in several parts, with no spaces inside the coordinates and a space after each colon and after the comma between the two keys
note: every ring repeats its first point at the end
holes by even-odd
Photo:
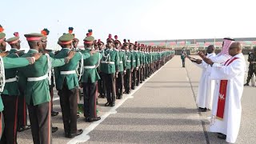
{"type": "MultiPolygon", "coordinates": [[[[215,57],[215,55],[215,53],[207,54],[206,58],[212,58],[215,57]]],[[[207,108],[211,110],[215,86],[215,81],[210,79],[210,72],[212,67],[203,61],[201,64],[196,65],[202,68],[202,74],[198,86],[197,104],[198,107],[207,108]]]]}

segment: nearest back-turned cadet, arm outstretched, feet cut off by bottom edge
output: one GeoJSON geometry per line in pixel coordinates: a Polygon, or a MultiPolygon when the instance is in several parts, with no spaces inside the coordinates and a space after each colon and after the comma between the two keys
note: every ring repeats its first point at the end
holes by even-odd
{"type": "MultiPolygon", "coordinates": [[[[23,58],[42,50],[42,34],[25,34],[30,46],[23,58]]],[[[50,71],[51,67],[62,66],[73,58],[74,53],[66,58],[54,59],[42,55],[34,65],[18,69],[19,81],[24,82],[26,104],[30,115],[31,131],[34,143],[51,143],[51,115],[50,115],[50,71]]]]}

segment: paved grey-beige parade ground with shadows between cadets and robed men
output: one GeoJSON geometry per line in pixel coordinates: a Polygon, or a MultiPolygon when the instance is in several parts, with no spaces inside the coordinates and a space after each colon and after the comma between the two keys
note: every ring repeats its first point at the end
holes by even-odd
{"type": "MultiPolygon", "coordinates": [[[[57,92],[54,95],[53,143],[226,143],[217,134],[207,132],[210,112],[200,113],[195,98],[201,70],[186,61],[182,68],[175,56],[129,95],[117,100],[116,106],[105,107],[106,99],[98,100],[102,120],[84,122],[78,118],[77,138],[64,138],[62,114],[57,92]]],[[[246,75],[247,76],[247,75],[246,75]]],[[[256,88],[248,86],[242,96],[242,124],[237,143],[256,143],[256,88]]],[[[32,142],[31,131],[18,133],[18,143],[32,142]]]]}

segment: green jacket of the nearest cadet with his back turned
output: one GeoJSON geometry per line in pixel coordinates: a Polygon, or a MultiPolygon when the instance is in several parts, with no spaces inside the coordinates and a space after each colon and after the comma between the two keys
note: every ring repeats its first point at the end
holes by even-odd
{"type": "MultiPolygon", "coordinates": [[[[32,54],[38,53],[37,50],[29,50],[27,54],[22,55],[23,58],[30,57],[32,54]]],[[[50,58],[51,66],[65,65],[65,59],[50,58]]],[[[50,91],[48,79],[41,81],[28,82],[27,78],[38,78],[48,73],[48,63],[46,55],[42,55],[33,65],[25,66],[18,69],[18,81],[22,84],[26,103],[29,105],[39,105],[44,102],[50,102],[50,91]]]]}

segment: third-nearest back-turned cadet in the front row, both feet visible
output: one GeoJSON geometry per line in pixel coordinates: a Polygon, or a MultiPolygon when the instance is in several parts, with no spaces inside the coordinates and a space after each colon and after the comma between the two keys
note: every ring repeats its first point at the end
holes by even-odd
{"type": "MultiPolygon", "coordinates": [[[[92,54],[94,46],[94,37],[89,36],[84,39],[85,50],[82,54],[92,54]]],[[[97,81],[100,79],[97,71],[102,55],[98,52],[92,54],[90,58],[84,60],[84,73],[82,75],[82,87],[84,95],[84,116],[86,122],[98,121],[101,118],[97,116],[96,112],[96,94],[97,81]]]]}

